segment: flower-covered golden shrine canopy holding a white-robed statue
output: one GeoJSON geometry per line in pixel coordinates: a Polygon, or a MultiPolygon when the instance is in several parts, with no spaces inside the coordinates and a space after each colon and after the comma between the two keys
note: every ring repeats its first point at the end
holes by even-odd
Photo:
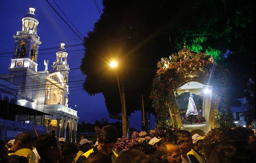
{"type": "Polygon", "coordinates": [[[150,98],[156,128],[184,128],[207,133],[216,125],[214,115],[226,98],[228,70],[206,53],[194,54],[186,45],[178,54],[161,58],[150,98]]]}

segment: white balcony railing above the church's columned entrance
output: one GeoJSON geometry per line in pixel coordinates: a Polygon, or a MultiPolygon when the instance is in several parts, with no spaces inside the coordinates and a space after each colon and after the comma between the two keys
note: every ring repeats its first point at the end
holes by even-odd
{"type": "Polygon", "coordinates": [[[62,104],[44,105],[44,112],[52,112],[52,111],[62,111],[65,113],[69,113],[73,116],[77,116],[77,111],[69,107],[66,107],[62,104]]]}

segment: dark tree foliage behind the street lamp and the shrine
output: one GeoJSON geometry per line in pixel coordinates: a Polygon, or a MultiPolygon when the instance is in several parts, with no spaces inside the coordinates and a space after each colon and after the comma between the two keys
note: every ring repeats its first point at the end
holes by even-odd
{"type": "Polygon", "coordinates": [[[247,82],[255,81],[252,0],[103,0],[103,6],[100,19],[85,37],[81,71],[86,75],[84,89],[89,95],[102,92],[110,113],[120,113],[121,103],[116,72],[106,62],[118,61],[129,115],[141,109],[141,94],[145,108],[151,108],[156,64],[182,49],[184,42],[229,69],[230,105],[240,105],[237,99],[246,96],[247,82]]]}

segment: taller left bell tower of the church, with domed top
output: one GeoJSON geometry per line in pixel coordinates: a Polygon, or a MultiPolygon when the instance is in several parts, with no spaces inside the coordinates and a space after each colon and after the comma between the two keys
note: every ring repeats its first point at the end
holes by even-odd
{"type": "Polygon", "coordinates": [[[37,35],[39,24],[37,16],[34,14],[36,9],[29,8],[29,12],[21,19],[21,31],[17,31],[15,38],[15,52],[11,59],[10,71],[17,68],[28,68],[37,72],[37,54],[41,44],[37,35]]]}

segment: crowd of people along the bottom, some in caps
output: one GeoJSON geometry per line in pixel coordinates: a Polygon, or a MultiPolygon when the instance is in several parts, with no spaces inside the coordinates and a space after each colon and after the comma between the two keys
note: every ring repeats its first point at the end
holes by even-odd
{"type": "MultiPolygon", "coordinates": [[[[103,127],[95,144],[81,137],[65,142],[52,133],[33,137],[21,133],[0,141],[0,163],[247,163],[255,162],[255,133],[249,128],[215,128],[207,135],[177,130],[173,142],[154,137],[129,150],[113,151],[118,131],[103,127]]],[[[169,139],[170,141],[170,139],[169,139]]]]}

